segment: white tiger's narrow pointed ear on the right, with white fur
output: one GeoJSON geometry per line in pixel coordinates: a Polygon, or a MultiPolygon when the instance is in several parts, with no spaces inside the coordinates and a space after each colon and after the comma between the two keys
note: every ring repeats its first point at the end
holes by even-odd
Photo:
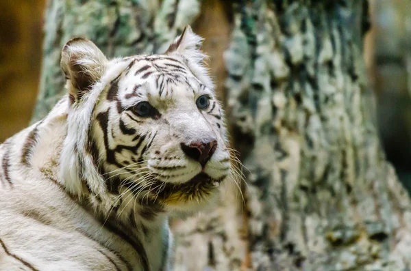
{"type": "Polygon", "coordinates": [[[212,80],[204,66],[204,59],[207,56],[200,50],[202,42],[203,38],[193,33],[191,27],[187,25],[184,27],[183,33],[170,44],[165,54],[184,57],[191,72],[197,76],[201,83],[212,89],[212,80]]]}

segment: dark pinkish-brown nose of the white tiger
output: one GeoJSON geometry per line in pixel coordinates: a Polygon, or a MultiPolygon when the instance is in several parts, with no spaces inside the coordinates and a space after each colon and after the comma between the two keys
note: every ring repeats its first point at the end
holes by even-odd
{"type": "Polygon", "coordinates": [[[181,143],[180,145],[186,156],[200,162],[201,166],[204,167],[216,151],[217,141],[213,140],[206,143],[195,141],[190,143],[190,145],[186,145],[185,143],[181,143]]]}

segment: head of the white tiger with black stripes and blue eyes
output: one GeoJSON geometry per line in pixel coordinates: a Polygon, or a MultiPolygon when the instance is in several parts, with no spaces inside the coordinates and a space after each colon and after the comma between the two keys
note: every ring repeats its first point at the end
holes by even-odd
{"type": "Polygon", "coordinates": [[[60,173],[73,194],[100,201],[129,195],[179,212],[217,194],[232,168],[200,44],[186,27],[163,55],[108,60],[89,40],[67,42],[60,173]]]}

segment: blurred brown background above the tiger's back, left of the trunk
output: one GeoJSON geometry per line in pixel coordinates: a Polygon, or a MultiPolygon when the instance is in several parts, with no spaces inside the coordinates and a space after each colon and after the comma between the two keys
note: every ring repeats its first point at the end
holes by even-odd
{"type": "Polygon", "coordinates": [[[29,123],[42,58],[45,0],[0,1],[0,143],[29,123]]]}

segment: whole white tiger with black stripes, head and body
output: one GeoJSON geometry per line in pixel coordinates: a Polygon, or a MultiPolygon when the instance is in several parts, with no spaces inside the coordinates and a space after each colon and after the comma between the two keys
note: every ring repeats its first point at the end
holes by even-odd
{"type": "Polygon", "coordinates": [[[167,218],[232,172],[223,110],[186,27],[162,55],[62,48],[66,91],[0,145],[0,270],[168,270],[167,218]]]}

